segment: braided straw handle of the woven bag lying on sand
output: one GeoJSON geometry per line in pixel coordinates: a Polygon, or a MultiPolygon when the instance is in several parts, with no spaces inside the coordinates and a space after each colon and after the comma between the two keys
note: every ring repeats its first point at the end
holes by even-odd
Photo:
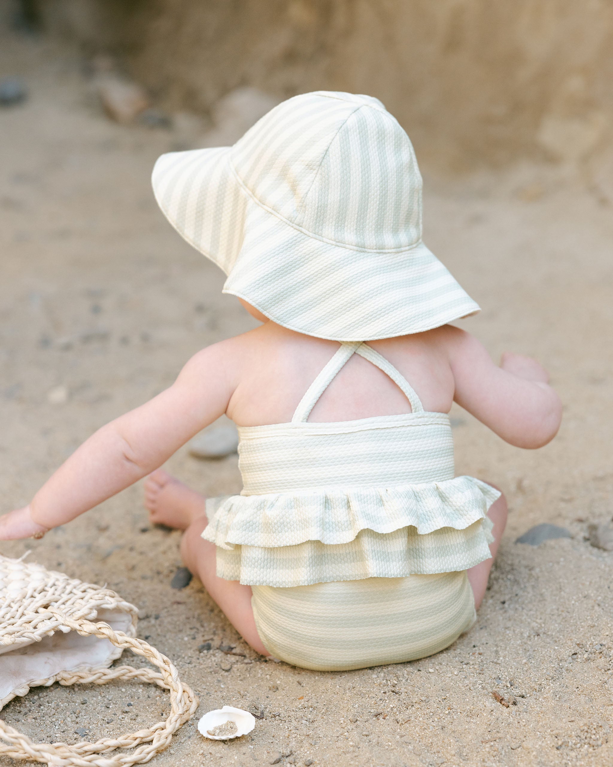
{"type": "Polygon", "coordinates": [[[149,729],[141,729],[118,738],[102,738],[95,743],[81,742],[74,746],[67,743],[34,743],[28,736],[8,726],[0,719],[0,754],[13,759],[29,759],[53,767],[131,767],[149,762],[156,754],[166,749],[173,734],[182,724],[191,719],[198,707],[198,698],[193,691],[179,680],[179,673],[162,653],[142,639],[128,637],[123,631],[113,630],[109,624],[100,621],[92,623],[84,618],[73,619],[54,607],[44,609],[61,620],[62,625],[77,631],[82,637],[95,636],[108,639],[115,647],[132,650],[156,666],[159,671],[131,666],[100,668],[87,671],[65,671],[57,676],[63,685],[106,684],[112,680],[133,680],[156,684],[170,690],[170,714],[166,722],[158,722],[149,729]],[[133,749],[132,752],[105,756],[114,749],[133,749]]]}

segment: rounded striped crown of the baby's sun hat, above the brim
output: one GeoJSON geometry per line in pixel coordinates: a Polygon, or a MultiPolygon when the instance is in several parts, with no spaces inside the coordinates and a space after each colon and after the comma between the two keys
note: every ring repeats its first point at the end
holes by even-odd
{"type": "Polygon", "coordinates": [[[421,175],[407,134],[369,96],[293,97],[235,144],[231,163],[262,206],[310,235],[388,251],[421,241],[421,175]]]}

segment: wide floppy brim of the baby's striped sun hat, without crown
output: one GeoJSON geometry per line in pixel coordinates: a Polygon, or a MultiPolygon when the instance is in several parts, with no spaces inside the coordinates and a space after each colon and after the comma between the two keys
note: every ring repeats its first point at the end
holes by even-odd
{"type": "Polygon", "coordinates": [[[264,208],[234,175],[230,152],[163,155],[152,176],[169,222],[229,275],[225,293],[333,341],[420,333],[480,311],[422,242],[385,252],[339,245],[264,208]]]}

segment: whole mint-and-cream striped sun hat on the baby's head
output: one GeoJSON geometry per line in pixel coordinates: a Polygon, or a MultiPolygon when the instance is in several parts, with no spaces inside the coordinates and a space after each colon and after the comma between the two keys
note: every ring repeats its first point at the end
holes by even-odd
{"type": "Polygon", "coordinates": [[[375,98],[295,96],[234,146],[162,155],[152,183],[224,292],[285,328],[373,341],[479,311],[421,242],[413,146],[375,98]]]}

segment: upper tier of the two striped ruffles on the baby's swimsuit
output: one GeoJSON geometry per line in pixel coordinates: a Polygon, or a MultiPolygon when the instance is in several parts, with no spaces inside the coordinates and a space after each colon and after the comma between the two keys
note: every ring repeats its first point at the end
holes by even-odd
{"type": "Polygon", "coordinates": [[[230,495],[209,499],[202,537],[231,550],[235,545],[340,545],[363,530],[387,534],[415,528],[420,536],[441,528],[461,531],[482,520],[499,497],[496,489],[470,476],[391,488],[230,495]]]}

